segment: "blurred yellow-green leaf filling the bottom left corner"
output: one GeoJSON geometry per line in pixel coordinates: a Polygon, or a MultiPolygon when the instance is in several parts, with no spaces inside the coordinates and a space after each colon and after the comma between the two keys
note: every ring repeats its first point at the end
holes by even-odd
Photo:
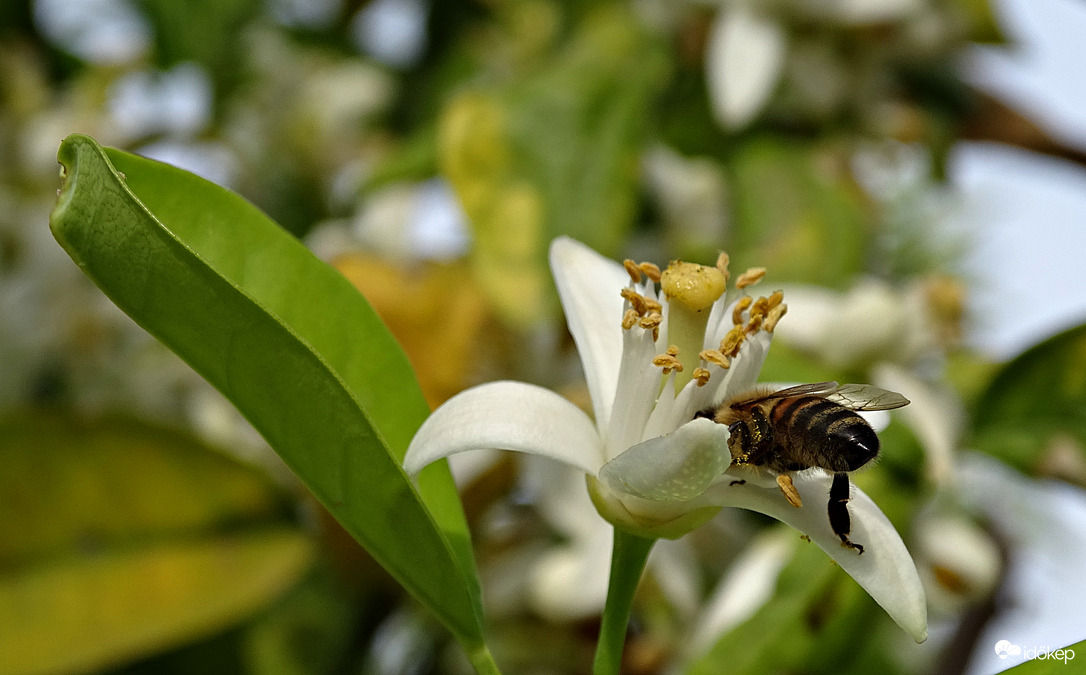
{"type": "Polygon", "coordinates": [[[310,568],[278,488],[132,420],[0,421],[0,671],[88,672],[211,635],[310,568]]]}

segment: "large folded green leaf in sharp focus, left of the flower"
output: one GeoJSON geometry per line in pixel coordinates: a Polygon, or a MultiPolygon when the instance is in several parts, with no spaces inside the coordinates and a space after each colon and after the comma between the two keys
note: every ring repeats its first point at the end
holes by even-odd
{"type": "Polygon", "coordinates": [[[72,136],[56,240],[253,423],[320,502],[471,650],[481,609],[443,463],[401,468],[428,415],[399,345],[337,271],[236,194],[72,136]],[[115,167],[115,168],[114,168],[115,167]]]}

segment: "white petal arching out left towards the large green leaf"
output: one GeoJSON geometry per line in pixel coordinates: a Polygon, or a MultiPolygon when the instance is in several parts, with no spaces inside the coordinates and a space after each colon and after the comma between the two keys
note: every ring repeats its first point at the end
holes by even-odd
{"type": "Polygon", "coordinates": [[[404,470],[465,450],[496,448],[548,457],[595,474],[603,464],[596,428],[580,408],[523,382],[490,382],[460,392],[433,411],[412,438],[404,470]]]}

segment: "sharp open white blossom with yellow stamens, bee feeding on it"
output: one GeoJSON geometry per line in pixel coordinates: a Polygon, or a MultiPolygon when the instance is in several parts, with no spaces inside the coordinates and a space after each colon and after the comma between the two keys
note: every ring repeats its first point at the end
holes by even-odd
{"type": "MultiPolygon", "coordinates": [[[[754,386],[781,294],[727,304],[727,257],[715,268],[672,264],[626,268],[570,239],[551,246],[551,266],[584,367],[593,421],[554,392],[492,382],[446,402],[412,441],[404,469],[464,450],[500,448],[547,457],[583,471],[599,513],[635,535],[682,536],[722,507],[771,515],[806,533],[918,641],[926,637],[923,590],[912,559],[879,508],[854,488],[851,538],[842,547],[824,507],[831,476],[793,475],[806,508],[773,476],[731,468],[728,428],[695,415],[754,386]],[[745,481],[745,482],[742,482],[745,481]]],[[[741,275],[738,290],[763,269],[741,275]]]]}

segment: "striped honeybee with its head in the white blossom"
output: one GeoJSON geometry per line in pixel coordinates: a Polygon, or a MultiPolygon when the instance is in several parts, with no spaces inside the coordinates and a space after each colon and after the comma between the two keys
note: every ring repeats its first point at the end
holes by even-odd
{"type": "MultiPolygon", "coordinates": [[[[765,469],[794,507],[803,500],[791,474],[812,467],[833,473],[828,511],[841,545],[863,553],[848,538],[848,474],[879,455],[879,436],[858,410],[892,410],[909,399],[870,384],[817,382],[779,391],[755,391],[697,413],[731,433],[732,462],[765,469]]],[[[736,481],[742,483],[743,481],[736,481]]]]}

